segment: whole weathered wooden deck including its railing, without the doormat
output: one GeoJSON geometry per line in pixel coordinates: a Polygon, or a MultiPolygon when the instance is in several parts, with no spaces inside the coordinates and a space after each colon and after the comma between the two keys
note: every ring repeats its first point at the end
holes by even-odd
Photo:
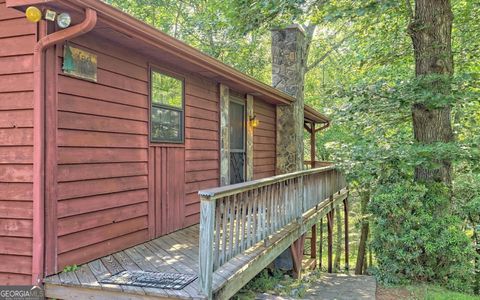
{"type": "Polygon", "coordinates": [[[328,167],[203,192],[200,225],[102,257],[79,266],[76,271],[49,276],[45,279],[46,296],[55,299],[229,299],[304,237],[320,218],[346,201],[348,189],[340,179],[333,167],[328,167]],[[245,187],[261,190],[245,194],[245,187]],[[237,193],[237,189],[242,191],[237,193]],[[233,204],[229,203],[232,201],[233,204]],[[211,213],[205,212],[205,207],[212,207],[211,213]],[[99,283],[124,270],[199,277],[182,290],[99,283]]]}

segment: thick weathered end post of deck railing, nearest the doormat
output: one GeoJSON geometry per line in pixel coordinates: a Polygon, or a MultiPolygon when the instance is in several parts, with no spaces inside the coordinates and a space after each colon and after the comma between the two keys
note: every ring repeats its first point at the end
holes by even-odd
{"type": "Polygon", "coordinates": [[[200,291],[212,299],[215,199],[200,197],[199,283],[200,291]]]}

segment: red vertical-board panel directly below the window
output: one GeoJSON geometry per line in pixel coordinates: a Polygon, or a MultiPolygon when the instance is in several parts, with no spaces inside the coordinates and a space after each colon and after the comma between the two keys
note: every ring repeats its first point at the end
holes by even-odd
{"type": "MultiPolygon", "coordinates": [[[[150,147],[150,201],[153,201],[155,236],[181,229],[184,221],[185,148],[150,147]]],[[[152,215],[152,214],[151,214],[152,215]]]]}

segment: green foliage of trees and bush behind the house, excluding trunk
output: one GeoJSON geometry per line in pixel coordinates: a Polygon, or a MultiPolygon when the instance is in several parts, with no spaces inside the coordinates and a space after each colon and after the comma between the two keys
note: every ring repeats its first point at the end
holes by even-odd
{"type": "MultiPolygon", "coordinates": [[[[413,1],[105,1],[265,83],[269,29],[316,25],[305,101],[333,119],[317,136],[317,157],[342,166],[353,200],[374,195],[370,213],[359,219],[375,224],[377,274],[389,283],[431,280],[455,289],[460,278],[469,281],[464,233],[478,243],[480,215],[479,0],[451,0],[454,76],[423,78],[414,78],[407,32],[406,3],[413,1]],[[413,103],[450,106],[455,142],[414,143],[413,103]],[[411,183],[416,166],[435,168],[439,159],[454,164],[451,202],[435,187],[411,183]]],[[[260,282],[267,285],[267,277],[260,282]]]]}

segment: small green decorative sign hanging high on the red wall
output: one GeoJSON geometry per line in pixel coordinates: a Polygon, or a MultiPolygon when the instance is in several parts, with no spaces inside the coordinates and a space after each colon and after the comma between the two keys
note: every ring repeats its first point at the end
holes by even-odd
{"type": "Polygon", "coordinates": [[[62,69],[65,74],[97,82],[97,56],[68,43],[63,47],[62,69]]]}

